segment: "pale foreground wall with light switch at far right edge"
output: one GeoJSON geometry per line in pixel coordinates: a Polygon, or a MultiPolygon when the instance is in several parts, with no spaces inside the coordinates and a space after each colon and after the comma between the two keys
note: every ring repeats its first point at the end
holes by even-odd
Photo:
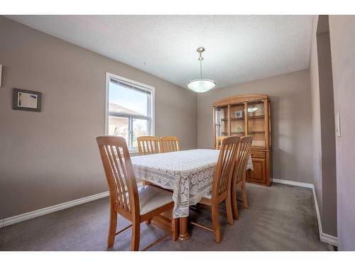
{"type": "Polygon", "coordinates": [[[337,137],[337,214],[340,250],[355,250],[355,16],[329,16],[337,137]]]}

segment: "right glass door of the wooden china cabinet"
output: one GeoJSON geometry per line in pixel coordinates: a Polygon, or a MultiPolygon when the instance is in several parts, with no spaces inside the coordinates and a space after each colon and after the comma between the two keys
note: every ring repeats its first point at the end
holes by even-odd
{"type": "Polygon", "coordinates": [[[247,104],[248,135],[253,136],[253,148],[266,148],[265,113],[263,101],[247,104]]]}

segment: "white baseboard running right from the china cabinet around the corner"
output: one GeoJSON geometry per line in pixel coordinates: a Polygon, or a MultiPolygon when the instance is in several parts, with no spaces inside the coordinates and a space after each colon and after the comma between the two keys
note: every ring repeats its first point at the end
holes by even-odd
{"type": "Polygon", "coordinates": [[[318,228],[320,231],[320,240],[324,243],[327,243],[330,245],[335,245],[337,247],[338,246],[338,238],[335,237],[334,235],[328,235],[327,233],[323,233],[322,221],[320,219],[320,209],[318,208],[317,196],[315,194],[315,186],[310,183],[294,182],[294,181],[289,181],[289,180],[284,180],[284,179],[273,179],[273,182],[280,183],[280,184],[290,184],[292,186],[297,186],[297,187],[307,187],[307,188],[312,189],[313,198],[315,199],[315,212],[317,214],[318,228]]]}

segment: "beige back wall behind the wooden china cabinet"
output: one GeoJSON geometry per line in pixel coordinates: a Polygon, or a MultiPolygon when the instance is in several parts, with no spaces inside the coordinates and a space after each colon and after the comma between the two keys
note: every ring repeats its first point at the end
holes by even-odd
{"type": "Polygon", "coordinates": [[[312,114],[308,70],[260,79],[197,96],[198,146],[212,148],[212,103],[237,94],[268,94],[273,127],[273,177],[313,182],[312,114]]]}

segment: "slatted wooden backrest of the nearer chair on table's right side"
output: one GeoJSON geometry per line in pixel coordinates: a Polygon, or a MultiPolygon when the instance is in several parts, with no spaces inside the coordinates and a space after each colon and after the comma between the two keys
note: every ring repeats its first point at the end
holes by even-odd
{"type": "Polygon", "coordinates": [[[226,193],[231,186],[231,174],[239,150],[239,141],[240,138],[236,136],[224,138],[222,141],[216,170],[214,170],[212,198],[226,193]]]}

